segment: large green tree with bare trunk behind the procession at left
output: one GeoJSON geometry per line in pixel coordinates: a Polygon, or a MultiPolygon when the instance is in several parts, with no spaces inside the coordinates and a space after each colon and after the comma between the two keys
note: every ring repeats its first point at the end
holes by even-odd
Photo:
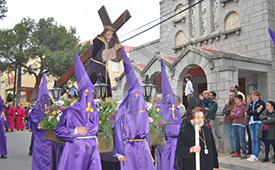
{"type": "Polygon", "coordinates": [[[23,18],[12,30],[1,31],[0,69],[17,64],[24,72],[35,76],[31,101],[37,96],[43,74],[60,77],[74,63],[74,52],[81,55],[91,45],[77,45],[76,28],[67,30],[53,18],[42,18],[38,22],[23,18]],[[30,59],[34,62],[28,65],[30,59]]]}

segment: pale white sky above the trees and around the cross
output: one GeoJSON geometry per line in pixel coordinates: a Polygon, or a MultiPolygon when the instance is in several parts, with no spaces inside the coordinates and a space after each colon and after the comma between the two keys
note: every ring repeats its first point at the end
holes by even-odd
{"type": "MultiPolygon", "coordinates": [[[[40,18],[53,17],[58,25],[67,29],[76,27],[76,36],[80,42],[94,39],[103,31],[98,10],[104,5],[112,22],[126,10],[131,18],[117,31],[123,41],[146,28],[157,24],[156,21],[147,27],[127,34],[157,18],[160,14],[160,0],[6,0],[7,17],[0,20],[0,29],[11,29],[22,18],[30,17],[35,21],[40,18]],[[127,34],[127,35],[125,35],[127,34]],[[125,36],[123,36],[125,35],[125,36]]],[[[159,38],[159,26],[123,43],[128,46],[139,46],[159,38]]]]}

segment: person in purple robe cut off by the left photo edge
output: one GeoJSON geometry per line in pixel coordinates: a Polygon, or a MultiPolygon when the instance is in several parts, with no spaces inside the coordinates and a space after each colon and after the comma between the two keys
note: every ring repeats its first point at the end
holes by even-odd
{"type": "Polygon", "coordinates": [[[6,112],[4,110],[4,101],[0,96],[0,155],[1,158],[7,158],[7,138],[6,138],[6,130],[9,132],[10,125],[6,116],[6,112]]]}

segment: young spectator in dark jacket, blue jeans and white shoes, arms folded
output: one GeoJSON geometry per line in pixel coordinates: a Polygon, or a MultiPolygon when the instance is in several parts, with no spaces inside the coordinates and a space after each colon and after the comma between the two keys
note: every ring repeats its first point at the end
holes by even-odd
{"type": "Polygon", "coordinates": [[[260,114],[265,110],[265,102],[260,99],[260,91],[254,90],[251,94],[252,102],[249,104],[247,109],[247,115],[249,116],[249,129],[252,140],[252,155],[248,161],[258,161],[258,155],[260,153],[260,139],[257,138],[258,131],[262,124],[259,119],[260,114]]]}

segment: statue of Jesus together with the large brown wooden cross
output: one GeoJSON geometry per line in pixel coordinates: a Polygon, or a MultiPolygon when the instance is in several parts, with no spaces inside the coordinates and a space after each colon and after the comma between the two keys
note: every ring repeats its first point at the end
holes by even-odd
{"type": "MultiPolygon", "coordinates": [[[[87,69],[88,76],[93,84],[97,81],[98,73],[101,73],[102,80],[109,87],[106,92],[106,97],[112,97],[111,83],[106,67],[107,61],[119,62],[121,56],[121,44],[117,38],[116,31],[127,22],[131,17],[128,10],[125,10],[117,20],[112,23],[106,8],[102,6],[98,14],[102,21],[104,30],[93,40],[93,45],[80,57],[84,64],[91,59],[87,69]]],[[[62,87],[67,80],[74,74],[74,65],[71,66],[58,80],[58,86],[62,87]]]]}

